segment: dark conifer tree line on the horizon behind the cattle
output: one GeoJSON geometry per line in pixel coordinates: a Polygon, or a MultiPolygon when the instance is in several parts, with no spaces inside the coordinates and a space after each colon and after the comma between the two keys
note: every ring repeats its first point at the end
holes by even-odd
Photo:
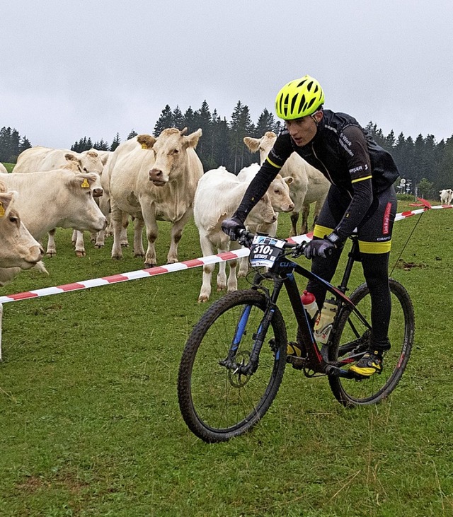
{"type": "MultiPolygon", "coordinates": [[[[252,154],[243,144],[244,136],[260,138],[265,132],[278,133],[282,123],[267,109],[264,109],[255,123],[251,120],[247,105],[238,101],[230,120],[220,117],[217,110],[211,112],[206,100],[198,110],[188,108],[184,113],[178,106],[172,109],[166,105],[159,119],[154,124],[153,135],[159,136],[167,127],[187,127],[188,134],[202,129],[202,137],[197,145],[205,170],[224,165],[232,173],[259,160],[258,154],[252,154]]],[[[437,142],[435,136],[419,134],[415,139],[404,136],[401,132],[395,135],[392,129],[384,135],[377,124],[369,122],[366,126],[377,144],[394,156],[403,182],[398,182],[398,192],[417,194],[421,197],[437,199],[438,191],[453,187],[453,135],[437,142]]],[[[136,136],[132,129],[126,140],[136,136]]],[[[72,151],[82,152],[94,148],[101,151],[114,151],[121,143],[117,133],[109,144],[103,139],[94,141],[83,136],[71,146],[72,151]]],[[[19,153],[31,147],[26,136],[21,137],[16,129],[3,127],[0,130],[0,161],[16,163],[19,153]]]]}

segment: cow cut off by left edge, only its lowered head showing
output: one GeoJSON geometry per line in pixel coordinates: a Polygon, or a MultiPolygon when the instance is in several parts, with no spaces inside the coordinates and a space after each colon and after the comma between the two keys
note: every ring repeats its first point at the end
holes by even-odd
{"type": "Polygon", "coordinates": [[[14,207],[17,192],[6,192],[0,180],[0,268],[30,269],[44,255],[42,246],[21,221],[14,207]]]}

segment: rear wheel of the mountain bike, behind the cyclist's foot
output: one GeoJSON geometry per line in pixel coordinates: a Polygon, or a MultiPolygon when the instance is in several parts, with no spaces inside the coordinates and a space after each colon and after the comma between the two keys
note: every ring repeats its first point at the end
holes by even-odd
{"type": "MultiPolygon", "coordinates": [[[[391,348],[384,353],[382,373],[357,380],[329,376],[331,390],[343,405],[355,407],[376,404],[387,397],[396,387],[411,354],[415,332],[413,305],[406,289],[396,280],[389,279],[391,292],[391,319],[389,340],[391,348]]],[[[371,322],[371,298],[367,284],[357,287],[350,296],[360,313],[371,322]]],[[[360,323],[350,308],[343,307],[338,313],[329,360],[347,369],[365,354],[368,349],[369,330],[360,323]]]]}

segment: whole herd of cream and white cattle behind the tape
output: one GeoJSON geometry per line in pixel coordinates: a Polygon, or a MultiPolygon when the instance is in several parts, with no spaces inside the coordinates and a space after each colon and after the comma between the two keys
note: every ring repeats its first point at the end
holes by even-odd
{"type": "MultiPolygon", "coordinates": [[[[103,247],[110,231],[111,256],[120,259],[122,248],[128,245],[127,226],[132,218],[134,256],[144,257],[145,267],[156,266],[157,221],[172,223],[169,264],[178,262],[178,243],[192,216],[204,256],[237,246],[222,232],[221,223],[239,205],[259,165],[254,163],[238,175],[224,167],[204,172],[195,151],[202,131],[186,132],[168,128],[157,138],[141,134],[115,151],[91,149],[76,153],[35,146],[18,156],[13,173],[6,173],[0,164],[0,286],[21,269],[45,270],[40,240],[47,233],[47,255],[55,255],[55,228],[74,229],[73,242],[79,257],[86,254],[84,231],[91,232],[96,248],[103,247]],[[142,242],[144,228],[146,252],[142,242]]],[[[275,139],[273,132],[267,132],[260,139],[246,136],[243,140],[250,151],[259,151],[263,163],[275,139]]],[[[246,223],[253,231],[275,235],[278,213],[290,212],[292,235],[305,233],[309,204],[316,202],[316,218],[328,187],[319,170],[293,153],[246,223]],[[299,214],[302,224],[298,229],[299,214]]],[[[452,190],[440,194],[442,203],[452,201],[452,190]]],[[[229,261],[229,267],[226,279],[225,264],[220,264],[217,289],[236,289],[236,262],[229,261]]],[[[210,298],[213,269],[214,265],[203,268],[199,301],[210,298]]],[[[246,274],[246,269],[246,262],[241,263],[237,274],[246,274]]]]}

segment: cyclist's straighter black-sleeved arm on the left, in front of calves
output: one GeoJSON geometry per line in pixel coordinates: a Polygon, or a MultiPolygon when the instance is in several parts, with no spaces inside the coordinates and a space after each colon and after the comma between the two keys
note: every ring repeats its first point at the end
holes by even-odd
{"type": "Polygon", "coordinates": [[[243,195],[241,204],[234,213],[234,217],[245,221],[251,209],[263,197],[266,190],[280,169],[291,155],[293,149],[289,134],[280,134],[275,140],[274,146],[270,149],[268,157],[261,165],[260,170],[256,173],[255,178],[251,180],[250,185],[243,195]]]}

